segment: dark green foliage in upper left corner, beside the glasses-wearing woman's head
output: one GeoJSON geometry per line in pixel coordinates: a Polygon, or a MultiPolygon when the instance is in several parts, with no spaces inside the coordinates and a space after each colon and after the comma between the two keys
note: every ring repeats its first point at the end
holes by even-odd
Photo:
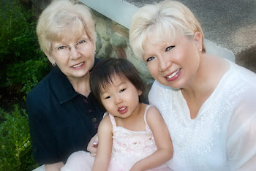
{"type": "Polygon", "coordinates": [[[27,93],[50,70],[39,49],[34,15],[18,0],[2,0],[0,9],[0,87],[27,93]]]}

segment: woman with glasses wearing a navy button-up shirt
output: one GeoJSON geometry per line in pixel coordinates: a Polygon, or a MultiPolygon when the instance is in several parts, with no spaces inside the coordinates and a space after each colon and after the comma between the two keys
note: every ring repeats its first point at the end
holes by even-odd
{"type": "Polygon", "coordinates": [[[96,32],[89,9],[53,1],[37,23],[39,45],[53,65],[26,97],[34,160],[59,170],[75,151],[86,151],[104,111],[89,86],[96,32]]]}

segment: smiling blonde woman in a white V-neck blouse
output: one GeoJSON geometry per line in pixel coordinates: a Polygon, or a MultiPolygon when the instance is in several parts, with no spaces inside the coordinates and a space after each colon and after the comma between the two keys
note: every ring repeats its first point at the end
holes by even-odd
{"type": "Polygon", "coordinates": [[[206,54],[203,31],[178,1],[146,5],[130,45],[155,81],[148,94],[173,141],[171,170],[256,170],[256,75],[206,54]]]}

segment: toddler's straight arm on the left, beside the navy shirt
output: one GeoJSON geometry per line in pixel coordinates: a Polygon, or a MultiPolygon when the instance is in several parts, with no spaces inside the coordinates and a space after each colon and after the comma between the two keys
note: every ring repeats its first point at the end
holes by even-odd
{"type": "Polygon", "coordinates": [[[98,137],[99,144],[94,160],[93,171],[108,170],[108,164],[112,152],[112,123],[109,115],[99,123],[98,137]]]}

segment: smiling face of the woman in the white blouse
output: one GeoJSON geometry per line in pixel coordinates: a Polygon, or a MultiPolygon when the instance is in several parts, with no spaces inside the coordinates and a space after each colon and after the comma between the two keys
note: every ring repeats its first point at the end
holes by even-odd
{"type": "Polygon", "coordinates": [[[200,48],[202,37],[199,32],[191,40],[180,35],[172,43],[146,45],[143,59],[159,83],[172,88],[186,88],[197,74],[200,48]]]}

